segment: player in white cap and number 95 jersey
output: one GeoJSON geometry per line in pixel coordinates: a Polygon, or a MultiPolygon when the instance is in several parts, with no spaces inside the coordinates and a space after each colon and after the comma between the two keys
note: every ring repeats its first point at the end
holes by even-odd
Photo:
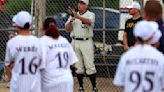
{"type": "Polygon", "coordinates": [[[113,83],[124,92],[162,92],[164,55],[151,46],[154,33],[160,32],[153,21],[141,21],[134,28],[137,44],[121,56],[113,83]]]}

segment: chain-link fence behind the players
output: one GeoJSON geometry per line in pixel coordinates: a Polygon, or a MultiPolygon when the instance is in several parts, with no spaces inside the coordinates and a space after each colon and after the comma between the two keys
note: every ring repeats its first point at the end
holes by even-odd
{"type": "MultiPolygon", "coordinates": [[[[95,46],[95,64],[97,69],[97,86],[99,92],[121,92],[120,88],[112,84],[116,66],[120,55],[124,52],[122,46],[122,31],[124,23],[128,16],[126,10],[120,12],[120,8],[124,8],[127,4],[131,4],[132,0],[90,0],[89,10],[96,15],[94,28],[94,46],[95,46]],[[123,1],[123,2],[122,2],[123,1]]],[[[140,0],[141,1],[141,0],[140,0]]],[[[77,9],[78,0],[8,0],[4,5],[5,14],[0,14],[0,61],[3,64],[5,57],[5,46],[8,41],[9,33],[16,32],[12,27],[11,18],[18,11],[26,10],[33,15],[32,34],[39,35],[41,24],[44,17],[52,16],[56,19],[60,33],[70,42],[70,34],[64,29],[64,24],[68,19],[66,9],[68,6],[77,9]],[[4,16],[5,15],[5,16],[4,16]],[[6,16],[10,16],[6,18],[6,16]],[[3,22],[2,22],[3,21],[3,22]],[[4,23],[7,23],[3,25],[4,23]],[[7,25],[7,26],[6,26],[7,25]]],[[[0,79],[4,74],[4,68],[0,66],[0,79]]],[[[0,82],[3,84],[4,81],[0,82]]],[[[75,77],[75,84],[77,83],[75,77]]],[[[85,89],[91,89],[88,78],[84,79],[85,89]]],[[[1,85],[0,85],[1,86],[1,85]]],[[[75,85],[77,91],[78,85],[75,85]]]]}

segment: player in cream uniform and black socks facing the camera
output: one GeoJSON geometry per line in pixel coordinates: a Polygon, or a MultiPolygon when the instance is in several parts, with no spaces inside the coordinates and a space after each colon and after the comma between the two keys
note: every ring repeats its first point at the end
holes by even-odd
{"type": "Polygon", "coordinates": [[[93,92],[96,88],[96,68],[94,65],[93,28],[95,14],[88,10],[89,0],[78,2],[78,12],[68,9],[69,17],[65,24],[66,31],[71,31],[72,46],[75,49],[79,62],[75,64],[79,92],[83,92],[83,77],[86,73],[91,80],[93,92]]]}

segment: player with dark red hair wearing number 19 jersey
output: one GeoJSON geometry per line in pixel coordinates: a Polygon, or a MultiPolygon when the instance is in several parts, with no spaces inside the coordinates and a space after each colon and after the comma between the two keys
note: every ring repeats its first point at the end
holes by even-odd
{"type": "Polygon", "coordinates": [[[43,22],[44,36],[43,61],[46,67],[42,70],[42,92],[73,92],[73,76],[70,66],[77,60],[71,44],[59,35],[56,21],[48,17],[43,22]]]}

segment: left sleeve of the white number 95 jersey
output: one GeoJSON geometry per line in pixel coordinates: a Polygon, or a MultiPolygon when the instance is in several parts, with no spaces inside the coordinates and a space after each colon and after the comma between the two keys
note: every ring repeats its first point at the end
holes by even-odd
{"type": "Polygon", "coordinates": [[[113,84],[116,86],[124,86],[125,81],[125,58],[121,57],[117,66],[116,75],[113,80],[113,84]]]}

